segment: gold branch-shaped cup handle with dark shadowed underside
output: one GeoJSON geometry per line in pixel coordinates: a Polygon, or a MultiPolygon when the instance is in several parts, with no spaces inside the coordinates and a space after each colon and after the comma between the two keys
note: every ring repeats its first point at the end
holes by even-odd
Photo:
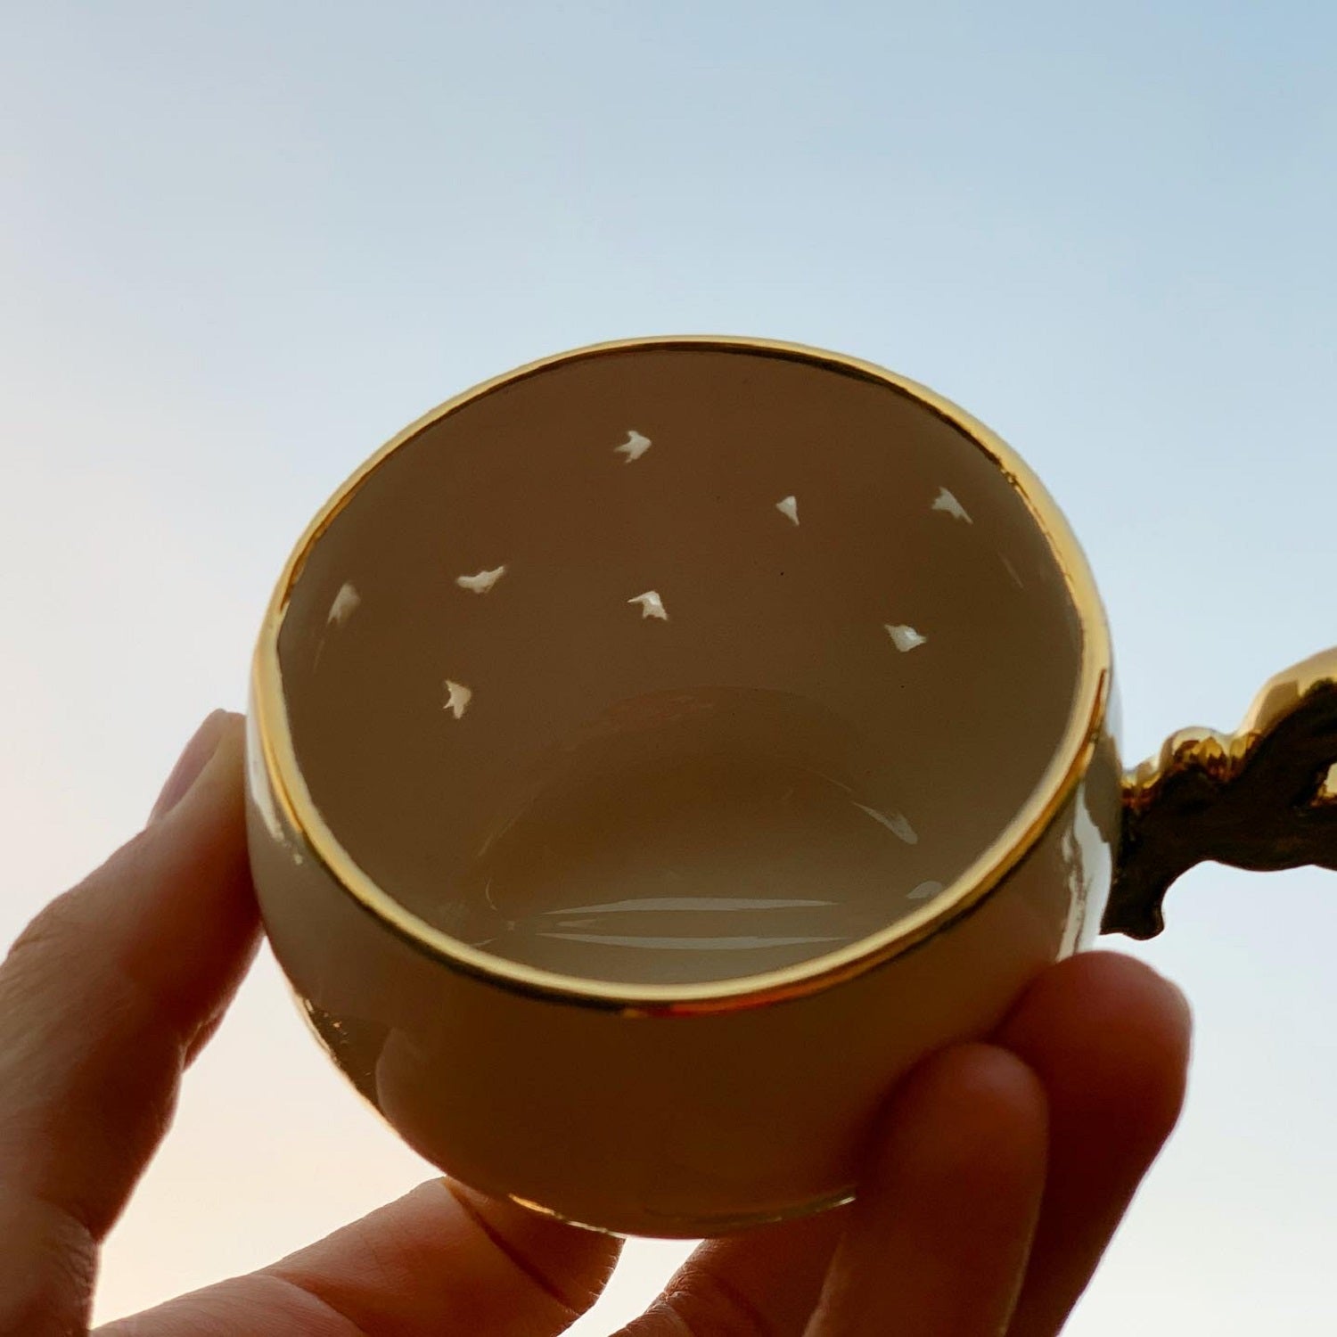
{"type": "Polygon", "coordinates": [[[1337,650],[1270,679],[1238,733],[1181,730],[1124,777],[1103,931],[1155,937],[1170,884],[1205,860],[1337,869],[1337,650]]]}

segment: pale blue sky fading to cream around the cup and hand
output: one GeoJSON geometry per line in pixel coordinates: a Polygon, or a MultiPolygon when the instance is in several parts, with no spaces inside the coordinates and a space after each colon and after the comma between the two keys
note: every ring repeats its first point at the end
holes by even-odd
{"type": "MultiPolygon", "coordinates": [[[[143,821],[381,441],[635,334],[924,381],[1071,519],[1127,757],[1337,643],[1337,9],[342,0],[0,8],[0,802],[12,937],[143,821]]],[[[1330,1333],[1337,877],[1195,870],[1127,947],[1183,1123],[1074,1317],[1330,1333]]],[[[106,1254],[115,1317],[427,1175],[263,957],[106,1254]]],[[[683,1253],[634,1245],[574,1329],[683,1253]]]]}

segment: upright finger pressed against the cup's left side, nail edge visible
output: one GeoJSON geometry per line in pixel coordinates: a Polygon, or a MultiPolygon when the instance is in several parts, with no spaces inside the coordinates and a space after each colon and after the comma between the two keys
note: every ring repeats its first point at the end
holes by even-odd
{"type": "Polygon", "coordinates": [[[241,721],[211,715],[150,826],[0,967],[3,1334],[83,1330],[96,1245],[250,961],[241,751],[241,721]]]}

